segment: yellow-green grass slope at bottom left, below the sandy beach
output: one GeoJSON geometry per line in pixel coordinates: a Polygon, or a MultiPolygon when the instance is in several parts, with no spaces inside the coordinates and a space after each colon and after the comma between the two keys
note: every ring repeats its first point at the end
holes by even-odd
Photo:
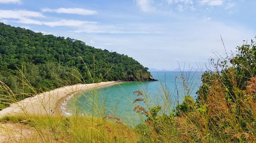
{"type": "Polygon", "coordinates": [[[30,134],[26,136],[15,137],[16,132],[9,129],[9,138],[6,138],[9,142],[136,142],[139,137],[133,129],[122,124],[99,118],[94,118],[92,124],[91,117],[87,116],[53,116],[50,119],[35,115],[29,118],[7,116],[1,121],[29,126],[30,134]]]}

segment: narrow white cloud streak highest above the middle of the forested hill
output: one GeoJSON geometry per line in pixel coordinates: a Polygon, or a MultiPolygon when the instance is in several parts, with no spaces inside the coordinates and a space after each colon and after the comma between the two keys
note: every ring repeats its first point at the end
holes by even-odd
{"type": "Polygon", "coordinates": [[[67,14],[78,14],[78,15],[94,15],[97,14],[96,11],[80,8],[59,8],[59,9],[49,9],[43,8],[42,12],[55,12],[55,13],[67,13],[67,14]]]}

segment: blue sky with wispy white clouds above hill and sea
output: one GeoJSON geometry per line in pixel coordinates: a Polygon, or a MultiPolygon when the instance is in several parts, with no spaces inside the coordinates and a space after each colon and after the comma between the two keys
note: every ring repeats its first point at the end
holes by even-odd
{"type": "Polygon", "coordinates": [[[0,21],[131,56],[202,68],[256,36],[255,0],[0,0],[0,21]]]}

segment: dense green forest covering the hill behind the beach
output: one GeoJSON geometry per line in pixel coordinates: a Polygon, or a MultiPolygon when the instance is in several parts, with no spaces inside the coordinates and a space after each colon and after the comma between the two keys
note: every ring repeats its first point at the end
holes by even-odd
{"type": "Polygon", "coordinates": [[[34,93],[30,85],[41,92],[81,82],[147,80],[147,70],[124,54],[0,23],[0,80],[17,93],[34,93]]]}

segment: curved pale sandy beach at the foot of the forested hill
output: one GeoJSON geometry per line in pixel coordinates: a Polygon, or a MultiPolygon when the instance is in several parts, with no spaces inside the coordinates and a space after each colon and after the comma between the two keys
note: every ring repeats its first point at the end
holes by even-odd
{"type": "Polygon", "coordinates": [[[6,115],[24,113],[28,113],[30,115],[60,115],[60,102],[65,100],[65,98],[69,97],[69,95],[72,93],[113,85],[116,83],[119,82],[108,81],[91,84],[75,84],[41,93],[35,95],[34,97],[26,98],[22,101],[12,103],[10,107],[0,111],[0,118],[6,115]]]}

